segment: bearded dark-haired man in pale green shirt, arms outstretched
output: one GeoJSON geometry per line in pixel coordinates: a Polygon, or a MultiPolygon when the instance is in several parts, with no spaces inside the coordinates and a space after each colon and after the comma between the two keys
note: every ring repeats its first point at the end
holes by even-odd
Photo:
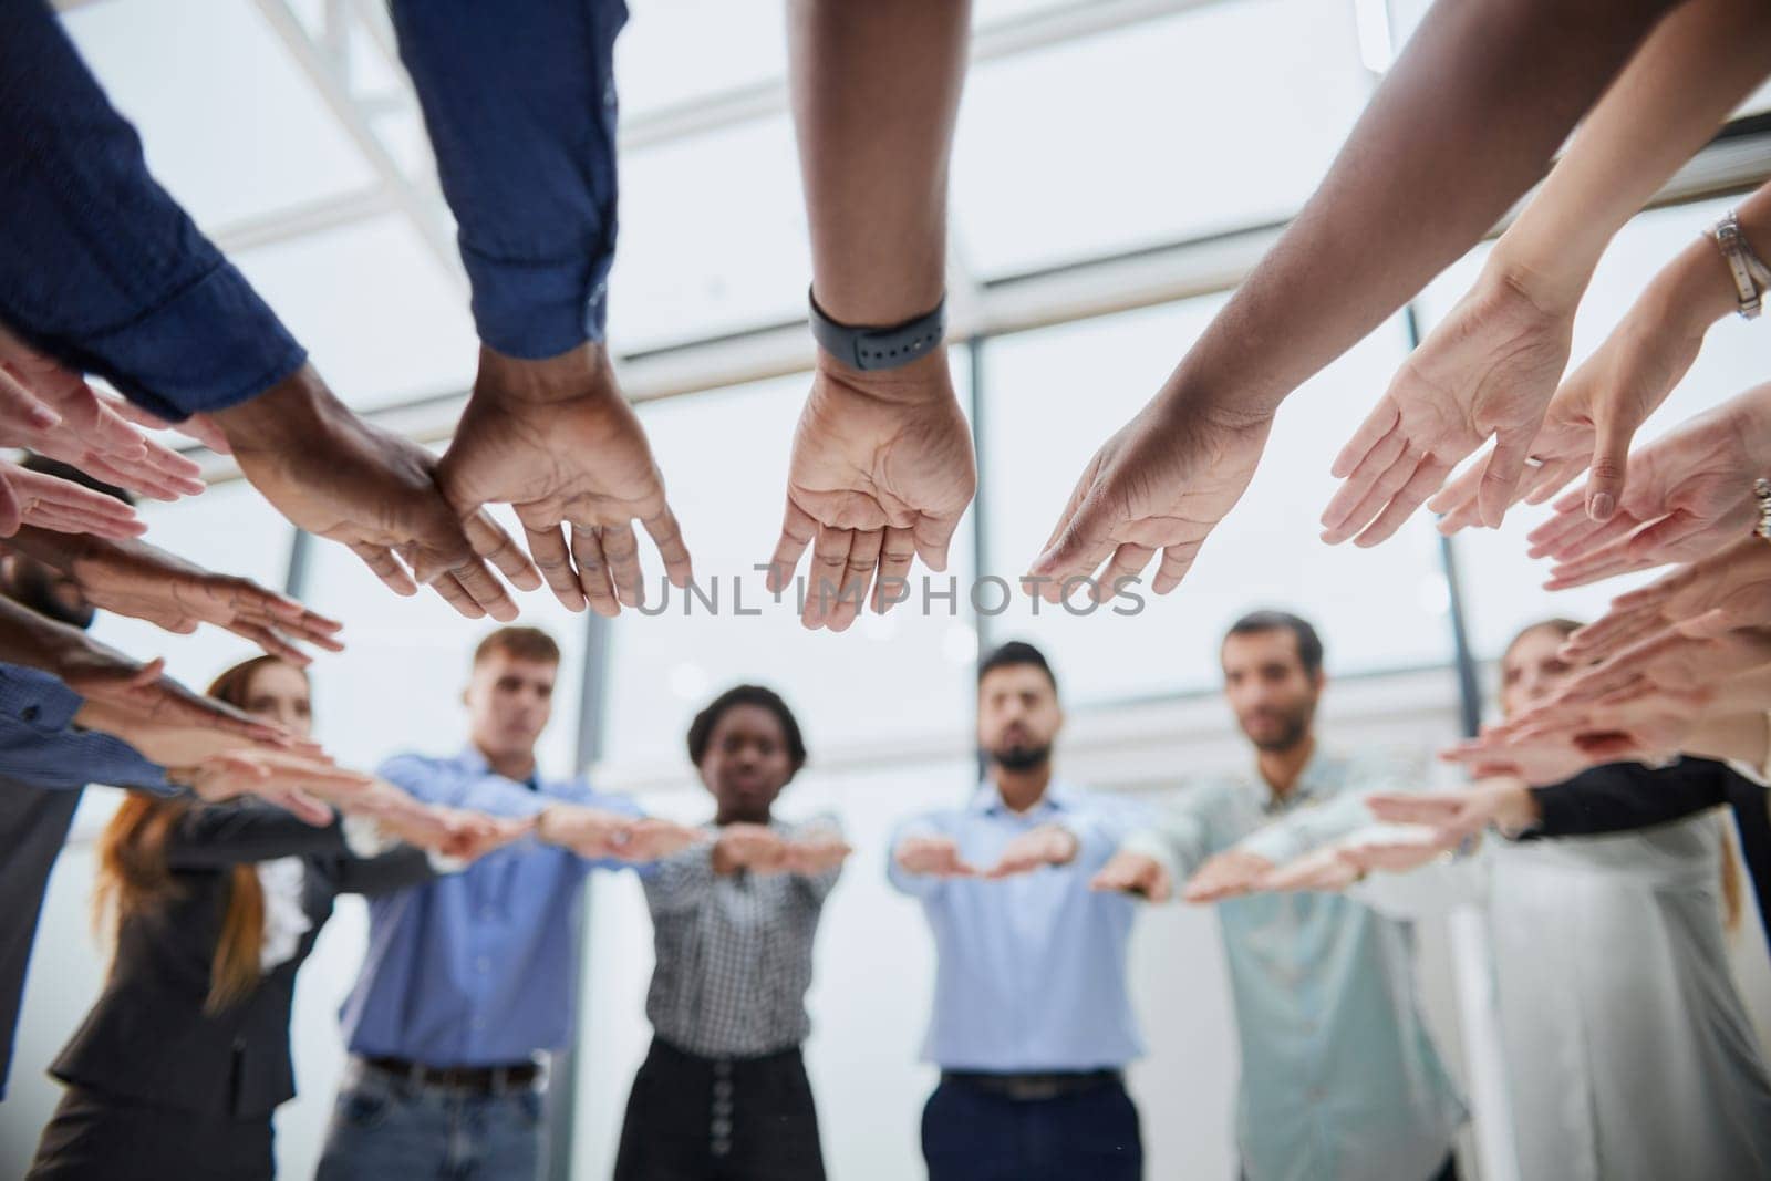
{"type": "Polygon", "coordinates": [[[1466,1112],[1415,999],[1410,926],[1337,894],[1245,896],[1344,832],[1365,793],[1420,781],[1401,760],[1318,745],[1321,657],[1316,630],[1291,614],[1231,629],[1226,696],[1257,774],[1188,786],[1096,885],[1160,901],[1194,875],[1188,901],[1222,901],[1247,1181],[1450,1181],[1466,1112]]]}

